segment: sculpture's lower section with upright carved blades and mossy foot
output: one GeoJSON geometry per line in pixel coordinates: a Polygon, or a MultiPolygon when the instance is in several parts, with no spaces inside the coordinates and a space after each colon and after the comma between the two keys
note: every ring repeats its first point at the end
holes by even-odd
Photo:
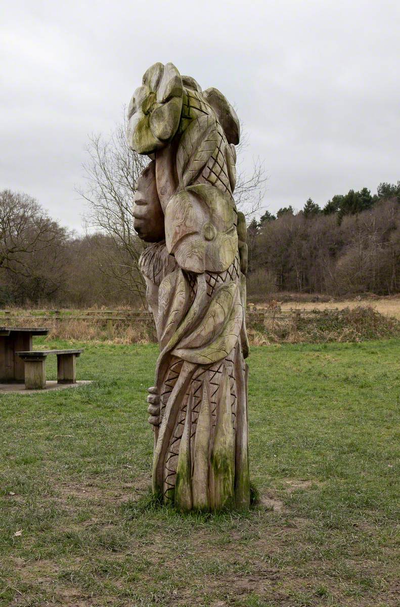
{"type": "Polygon", "coordinates": [[[161,392],[165,399],[175,373],[154,453],[155,494],[181,511],[248,509],[247,365],[240,347],[209,367],[184,363],[176,376],[176,366],[172,361],[161,392]]]}

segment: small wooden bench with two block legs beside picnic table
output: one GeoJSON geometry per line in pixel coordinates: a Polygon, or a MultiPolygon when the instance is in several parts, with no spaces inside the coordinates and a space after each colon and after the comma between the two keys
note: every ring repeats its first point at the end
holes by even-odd
{"type": "Polygon", "coordinates": [[[46,388],[46,358],[57,356],[57,383],[76,384],[75,360],[83,350],[29,350],[16,352],[25,362],[25,389],[46,388]]]}

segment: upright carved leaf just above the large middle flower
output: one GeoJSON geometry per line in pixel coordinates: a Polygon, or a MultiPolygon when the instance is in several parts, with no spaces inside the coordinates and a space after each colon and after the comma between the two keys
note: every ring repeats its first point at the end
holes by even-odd
{"type": "Polygon", "coordinates": [[[215,117],[204,114],[189,124],[179,142],[177,169],[180,185],[194,183],[217,148],[220,135],[215,117]]]}

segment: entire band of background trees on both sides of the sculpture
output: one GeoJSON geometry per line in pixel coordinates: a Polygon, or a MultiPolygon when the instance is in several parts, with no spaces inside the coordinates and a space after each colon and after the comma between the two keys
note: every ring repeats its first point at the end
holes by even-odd
{"type": "MultiPolygon", "coordinates": [[[[86,234],[59,225],[27,194],[0,192],[0,306],[144,303],[132,200],[143,157],[127,148],[125,126],[88,146],[86,234]]],[[[400,291],[400,181],[335,195],[323,208],[265,211],[260,161],[239,171],[235,195],[248,223],[248,293],[391,294],[400,291]]]]}

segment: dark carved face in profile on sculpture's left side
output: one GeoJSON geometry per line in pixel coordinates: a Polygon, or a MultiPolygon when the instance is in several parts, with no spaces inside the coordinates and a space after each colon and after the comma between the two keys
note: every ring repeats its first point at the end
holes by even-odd
{"type": "Polygon", "coordinates": [[[155,160],[146,166],[138,179],[134,198],[134,228],[144,242],[164,240],[164,214],[155,182],[155,160]]]}

